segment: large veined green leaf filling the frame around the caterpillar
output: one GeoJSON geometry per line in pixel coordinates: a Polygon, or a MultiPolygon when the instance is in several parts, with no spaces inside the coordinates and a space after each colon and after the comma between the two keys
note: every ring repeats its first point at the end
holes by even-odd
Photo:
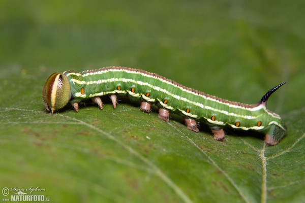
{"type": "Polygon", "coordinates": [[[51,202],[304,201],[303,3],[15,3],[3,1],[0,15],[3,201],[31,187],[51,202]],[[233,130],[217,142],[124,99],[115,110],[44,110],[51,73],[108,65],[243,103],[287,81],[268,108],[289,131],[273,147],[233,130]]]}

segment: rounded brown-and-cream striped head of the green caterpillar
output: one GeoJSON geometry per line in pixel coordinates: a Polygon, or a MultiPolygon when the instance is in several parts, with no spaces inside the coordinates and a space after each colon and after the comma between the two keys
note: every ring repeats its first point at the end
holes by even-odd
{"type": "Polygon", "coordinates": [[[47,79],[43,91],[43,103],[52,114],[65,107],[71,99],[71,86],[66,75],[55,72],[47,79]]]}

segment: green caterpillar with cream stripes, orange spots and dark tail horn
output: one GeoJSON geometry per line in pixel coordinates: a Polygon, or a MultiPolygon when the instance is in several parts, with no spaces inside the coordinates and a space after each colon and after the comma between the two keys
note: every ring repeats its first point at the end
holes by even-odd
{"type": "Polygon", "coordinates": [[[184,117],[187,128],[198,132],[198,122],[206,124],[214,139],[225,141],[224,127],[254,130],[265,135],[269,146],[278,144],[286,133],[281,117],[266,108],[269,96],[284,83],[270,89],[253,105],[237,103],[180,85],[158,74],[128,67],[104,67],[76,73],[53,73],[43,87],[43,103],[52,114],[70,101],[75,111],[83,99],[92,99],[103,109],[101,96],[108,95],[116,108],[117,95],[141,101],[140,109],[159,108],[159,118],[169,121],[169,114],[184,117]]]}

